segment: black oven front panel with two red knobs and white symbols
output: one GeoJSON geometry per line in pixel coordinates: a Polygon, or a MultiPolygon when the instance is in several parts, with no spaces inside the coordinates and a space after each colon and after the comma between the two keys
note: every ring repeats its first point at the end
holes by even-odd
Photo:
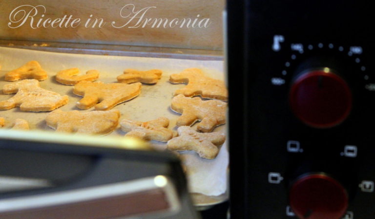
{"type": "Polygon", "coordinates": [[[374,11],[228,0],[231,218],[375,218],[374,11]]]}

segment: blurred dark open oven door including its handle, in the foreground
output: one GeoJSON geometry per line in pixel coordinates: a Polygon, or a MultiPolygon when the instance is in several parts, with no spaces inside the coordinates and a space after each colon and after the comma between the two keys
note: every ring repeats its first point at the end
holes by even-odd
{"type": "Polygon", "coordinates": [[[186,181],[172,153],[9,136],[0,131],[1,219],[166,218],[182,208],[186,181]]]}

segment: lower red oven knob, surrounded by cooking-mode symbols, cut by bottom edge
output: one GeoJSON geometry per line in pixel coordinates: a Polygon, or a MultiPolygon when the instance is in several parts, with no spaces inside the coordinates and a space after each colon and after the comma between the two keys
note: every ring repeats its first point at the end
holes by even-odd
{"type": "Polygon", "coordinates": [[[300,219],[341,219],[348,207],[345,188],[330,176],[299,178],[290,191],[290,205],[300,219]]]}

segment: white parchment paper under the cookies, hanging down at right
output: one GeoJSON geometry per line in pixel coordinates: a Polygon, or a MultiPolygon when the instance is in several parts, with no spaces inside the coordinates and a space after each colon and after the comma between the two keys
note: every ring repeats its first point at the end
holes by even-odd
{"type": "MultiPolygon", "coordinates": [[[[224,80],[222,61],[197,61],[183,59],[144,58],[124,56],[81,55],[69,53],[53,53],[27,49],[0,47],[0,88],[5,84],[4,74],[18,68],[29,61],[38,61],[47,71],[48,79],[41,81],[41,87],[52,90],[62,95],[69,96],[69,103],[60,109],[63,111],[79,110],[75,103],[82,97],[73,94],[73,86],[66,86],[55,81],[58,71],[78,67],[81,73],[96,69],[100,72],[98,81],[104,83],[117,83],[116,77],[121,75],[126,68],[138,70],[161,69],[163,75],[156,85],[143,85],[141,94],[133,100],[117,105],[114,109],[121,112],[122,119],[148,121],[165,116],[170,120],[169,129],[176,131],[175,126],[180,114],[170,110],[172,92],[185,85],[172,85],[168,82],[169,75],[179,73],[186,68],[201,68],[208,76],[224,80]]],[[[0,94],[0,101],[6,100],[13,94],[0,94]]],[[[83,110],[83,111],[91,111],[83,110]]],[[[23,112],[19,108],[0,111],[0,117],[5,118],[5,128],[11,127],[16,118],[22,118],[29,122],[30,129],[54,131],[45,124],[48,112],[23,112]]],[[[226,131],[225,125],[217,127],[214,131],[226,131]]],[[[120,128],[108,136],[125,135],[120,128]]],[[[151,141],[157,150],[164,150],[165,143],[151,141]]],[[[224,144],[219,155],[213,160],[200,158],[194,152],[182,152],[181,159],[186,165],[189,190],[191,193],[201,193],[207,196],[219,196],[227,189],[227,167],[229,155],[224,144]]]]}

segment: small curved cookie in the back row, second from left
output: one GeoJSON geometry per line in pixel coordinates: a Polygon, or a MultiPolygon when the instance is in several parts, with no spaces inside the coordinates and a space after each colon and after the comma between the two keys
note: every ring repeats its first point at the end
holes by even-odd
{"type": "Polygon", "coordinates": [[[80,81],[95,81],[99,78],[99,71],[88,70],[84,75],[78,75],[80,73],[79,68],[69,68],[61,70],[56,74],[56,81],[63,85],[75,85],[80,81]]]}

